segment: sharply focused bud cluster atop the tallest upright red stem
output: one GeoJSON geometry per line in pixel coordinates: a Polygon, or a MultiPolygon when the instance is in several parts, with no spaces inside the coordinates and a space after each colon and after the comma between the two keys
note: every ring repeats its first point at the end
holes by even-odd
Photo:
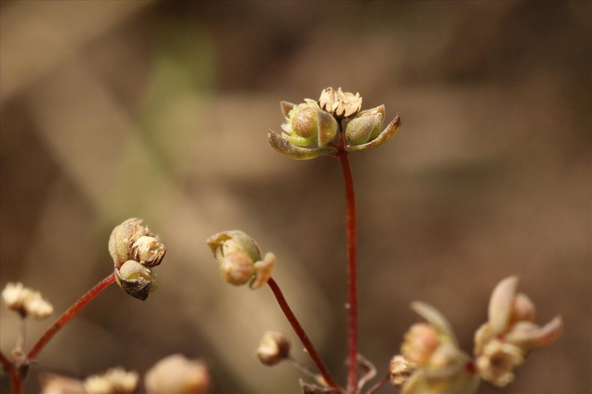
{"type": "Polygon", "coordinates": [[[388,141],[401,126],[401,117],[382,130],[385,119],[384,105],[360,112],[362,97],[327,87],[321,92],[318,102],[304,99],[302,104],[282,101],[280,103],[286,123],[284,133],[278,135],[269,131],[269,144],[276,151],[298,160],[319,156],[335,156],[337,148],[331,144],[337,135],[337,121],[349,121],[345,129],[347,152],[373,148],[388,141]],[[311,148],[304,146],[316,145],[311,148]]]}

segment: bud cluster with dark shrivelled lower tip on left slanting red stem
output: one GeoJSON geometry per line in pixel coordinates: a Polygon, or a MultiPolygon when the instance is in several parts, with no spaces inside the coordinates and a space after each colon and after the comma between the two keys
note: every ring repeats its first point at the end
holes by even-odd
{"type": "Polygon", "coordinates": [[[166,248],[158,236],[142,226],[142,220],[128,219],[115,227],[109,239],[115,279],[127,294],[146,299],[156,289],[156,273],[152,268],[165,257],[166,248]]]}

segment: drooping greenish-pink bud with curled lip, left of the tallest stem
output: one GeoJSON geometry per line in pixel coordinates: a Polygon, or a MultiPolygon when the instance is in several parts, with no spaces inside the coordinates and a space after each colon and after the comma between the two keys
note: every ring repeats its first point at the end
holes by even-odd
{"type": "Polygon", "coordinates": [[[259,245],[240,230],[223,231],[207,239],[216,261],[220,275],[231,285],[249,283],[250,288],[258,289],[265,285],[274,271],[275,255],[268,252],[261,256],[259,245]]]}

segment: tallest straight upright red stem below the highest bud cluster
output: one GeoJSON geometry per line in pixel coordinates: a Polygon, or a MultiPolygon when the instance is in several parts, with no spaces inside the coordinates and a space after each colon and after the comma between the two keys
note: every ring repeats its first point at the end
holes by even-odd
{"type": "MultiPolygon", "coordinates": [[[[339,129],[342,131],[341,122],[339,129]]],[[[347,235],[348,235],[348,393],[358,392],[358,278],[356,276],[356,197],[353,191],[352,168],[349,165],[348,152],[345,151],[343,132],[339,133],[339,151],[337,157],[343,171],[345,196],[348,201],[347,235]]]]}

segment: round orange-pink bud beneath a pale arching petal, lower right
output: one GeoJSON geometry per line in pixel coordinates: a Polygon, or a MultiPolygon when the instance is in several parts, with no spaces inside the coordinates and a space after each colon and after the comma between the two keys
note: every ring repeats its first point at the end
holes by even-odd
{"type": "Polygon", "coordinates": [[[412,363],[425,364],[440,345],[438,334],[431,324],[413,324],[404,337],[401,354],[412,363]]]}

